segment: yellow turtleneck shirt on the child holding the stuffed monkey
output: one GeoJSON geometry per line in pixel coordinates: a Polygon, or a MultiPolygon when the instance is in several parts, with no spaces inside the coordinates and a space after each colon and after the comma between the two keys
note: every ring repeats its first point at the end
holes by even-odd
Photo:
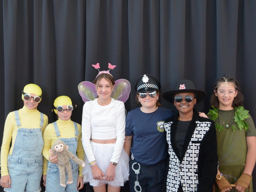
{"type": "MultiPolygon", "coordinates": [[[[82,145],[82,133],[81,133],[81,125],[77,124],[77,129],[78,129],[78,136],[75,135],[75,127],[74,123],[71,120],[57,120],[57,126],[60,132],[60,138],[72,138],[72,137],[77,137],[77,156],[79,159],[83,160],[84,157],[84,150],[83,150],[83,145],[82,145]]],[[[42,151],[43,156],[49,161],[49,149],[51,148],[52,144],[54,144],[57,140],[58,137],[56,136],[54,125],[50,123],[45,131],[44,131],[44,148],[42,151]]],[[[79,176],[82,175],[82,166],[79,166],[79,176]]],[[[44,167],[43,170],[43,175],[46,175],[47,173],[47,167],[44,167]]]]}

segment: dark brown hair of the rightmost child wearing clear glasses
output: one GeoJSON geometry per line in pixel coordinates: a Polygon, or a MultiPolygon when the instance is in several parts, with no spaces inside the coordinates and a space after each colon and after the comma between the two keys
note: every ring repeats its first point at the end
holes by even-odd
{"type": "MultiPolygon", "coordinates": [[[[234,97],[234,100],[233,100],[233,103],[232,103],[232,107],[239,107],[241,105],[243,105],[243,95],[242,93],[240,92],[240,84],[237,80],[233,79],[232,77],[227,77],[227,76],[223,76],[225,77],[226,81],[228,83],[233,83],[237,86],[236,90],[238,91],[236,97],[234,97]]],[[[225,79],[221,77],[219,78],[213,85],[214,87],[214,90],[217,91],[217,86],[220,84],[220,83],[224,83],[225,82],[225,79]]],[[[211,94],[211,99],[210,99],[210,104],[213,105],[215,108],[219,108],[219,100],[218,100],[218,97],[216,97],[215,93],[213,92],[211,94]]]]}

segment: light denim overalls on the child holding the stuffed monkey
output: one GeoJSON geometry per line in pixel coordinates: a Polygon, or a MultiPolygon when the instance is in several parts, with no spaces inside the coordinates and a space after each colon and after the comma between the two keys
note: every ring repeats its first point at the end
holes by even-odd
{"type": "MultiPolygon", "coordinates": [[[[54,129],[56,136],[58,137],[58,140],[63,141],[66,145],[68,145],[68,151],[73,153],[74,155],[77,156],[77,137],[72,137],[72,138],[60,138],[60,132],[57,126],[57,123],[54,122],[54,129]]],[[[74,122],[74,127],[75,127],[75,135],[78,136],[78,129],[77,129],[77,123],[74,122]]],[[[47,176],[46,176],[46,192],[78,192],[77,190],[77,179],[78,179],[78,164],[73,162],[71,159],[69,159],[71,169],[72,169],[72,174],[73,174],[73,183],[71,184],[66,184],[68,181],[68,174],[66,172],[66,181],[65,184],[67,185],[66,187],[62,187],[60,185],[60,172],[59,168],[55,163],[51,163],[48,161],[48,168],[47,168],[47,176]]]]}

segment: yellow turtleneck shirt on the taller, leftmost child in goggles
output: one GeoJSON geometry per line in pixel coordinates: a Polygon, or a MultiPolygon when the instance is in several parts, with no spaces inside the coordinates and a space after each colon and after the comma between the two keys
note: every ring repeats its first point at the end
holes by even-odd
{"type": "MultiPolygon", "coordinates": [[[[40,112],[37,109],[28,109],[26,106],[18,110],[19,118],[20,118],[20,127],[27,129],[40,128],[40,112]]],[[[45,127],[48,125],[48,117],[44,114],[44,124],[42,131],[44,132],[45,127]]],[[[1,147],[1,176],[8,175],[7,169],[7,157],[8,154],[12,155],[13,147],[15,143],[15,139],[18,132],[18,126],[15,120],[14,111],[10,112],[7,115],[4,124],[4,135],[3,135],[3,143],[1,147]],[[12,146],[10,147],[10,143],[12,141],[12,146]]],[[[47,161],[44,159],[44,167],[47,166],[47,161]]]]}

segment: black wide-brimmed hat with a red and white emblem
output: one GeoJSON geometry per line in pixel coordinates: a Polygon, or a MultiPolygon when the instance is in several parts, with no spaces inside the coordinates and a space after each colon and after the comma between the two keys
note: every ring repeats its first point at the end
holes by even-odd
{"type": "Polygon", "coordinates": [[[174,89],[163,92],[162,96],[165,100],[174,103],[174,95],[177,93],[195,93],[196,94],[196,102],[206,98],[207,93],[205,91],[195,89],[195,85],[190,80],[179,80],[175,83],[174,89]]]}

